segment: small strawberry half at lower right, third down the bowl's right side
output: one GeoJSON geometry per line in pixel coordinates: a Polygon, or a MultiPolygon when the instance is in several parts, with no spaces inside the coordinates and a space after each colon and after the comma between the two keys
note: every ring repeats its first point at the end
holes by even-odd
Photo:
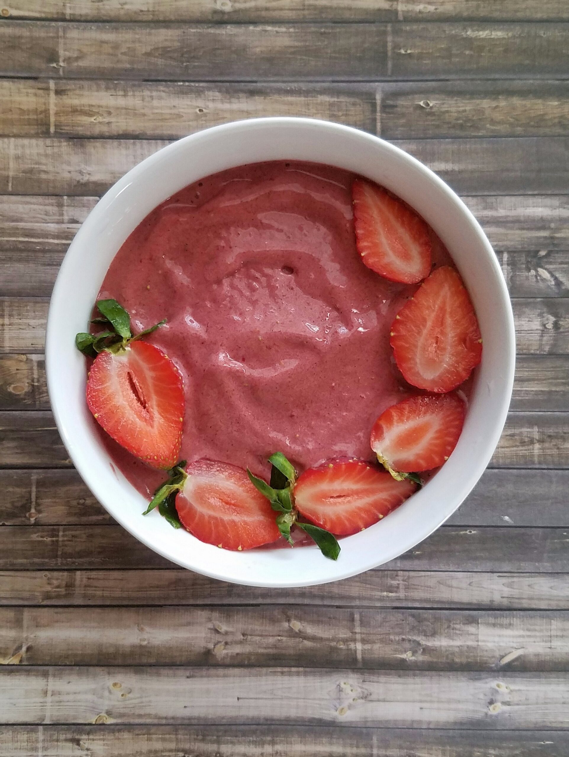
{"type": "Polygon", "coordinates": [[[464,424],[464,402],[456,394],[410,397],[388,407],[371,430],[371,449],[392,475],[442,466],[464,424]]]}

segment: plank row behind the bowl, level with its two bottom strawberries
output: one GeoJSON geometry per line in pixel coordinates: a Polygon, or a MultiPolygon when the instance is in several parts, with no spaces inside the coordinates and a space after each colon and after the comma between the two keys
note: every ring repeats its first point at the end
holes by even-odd
{"type": "MultiPolygon", "coordinates": [[[[488,469],[449,525],[569,528],[569,470],[488,469]]],[[[77,471],[2,470],[0,525],[112,523],[77,471]]]]}

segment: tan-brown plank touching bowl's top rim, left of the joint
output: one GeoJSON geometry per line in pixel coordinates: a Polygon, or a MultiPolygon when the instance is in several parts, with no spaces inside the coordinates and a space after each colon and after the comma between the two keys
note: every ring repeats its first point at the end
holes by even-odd
{"type": "Polygon", "coordinates": [[[374,86],[4,79],[2,136],[176,138],[229,120],[306,116],[374,132],[374,86]]]}

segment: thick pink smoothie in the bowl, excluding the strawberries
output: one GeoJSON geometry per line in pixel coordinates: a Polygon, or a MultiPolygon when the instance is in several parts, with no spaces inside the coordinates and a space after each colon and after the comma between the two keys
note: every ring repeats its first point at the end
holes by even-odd
{"type": "MultiPolygon", "coordinates": [[[[367,269],[355,248],[354,175],[270,162],[217,173],[158,206],[118,251],[101,289],[183,375],[181,457],[266,475],[283,452],[302,471],[373,459],[370,429],[411,394],[389,327],[415,286],[367,269]]],[[[433,259],[452,264],[433,235],[433,259]]],[[[154,472],[107,440],[148,494],[154,472]]]]}

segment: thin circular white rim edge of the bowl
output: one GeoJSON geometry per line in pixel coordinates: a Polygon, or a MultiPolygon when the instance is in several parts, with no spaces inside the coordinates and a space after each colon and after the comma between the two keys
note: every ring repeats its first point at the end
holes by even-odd
{"type": "MultiPolygon", "coordinates": [[[[274,160],[279,160],[279,159],[280,158],[274,158],[274,160]]],[[[283,159],[286,160],[286,158],[283,158],[283,159]]],[[[304,159],[295,157],[294,155],[290,155],[289,160],[304,160],[304,159]]],[[[245,163],[236,162],[234,165],[236,166],[246,165],[246,164],[251,164],[254,162],[255,160],[253,161],[247,160],[245,161],[245,163]]],[[[323,161],[317,160],[316,162],[321,163],[323,161]]],[[[212,171],[211,173],[217,173],[217,171],[212,171]]],[[[203,175],[207,176],[208,174],[203,174],[203,175]]],[[[188,183],[192,183],[192,182],[188,182],[188,183]]],[[[174,190],[172,194],[174,194],[175,191],[176,190],[174,190]]],[[[159,204],[159,203],[156,203],[156,204],[159,204]]],[[[130,169],[120,179],[118,179],[118,181],[115,182],[114,185],[112,185],[111,188],[109,188],[107,192],[105,192],[105,195],[103,195],[102,198],[99,199],[98,203],[91,210],[91,212],[89,213],[89,216],[86,218],[86,220],[80,226],[80,229],[77,231],[77,234],[73,238],[73,241],[71,242],[70,247],[68,248],[67,253],[65,254],[64,260],[61,263],[61,268],[59,269],[58,276],[56,278],[55,285],[52,291],[52,297],[50,300],[49,310],[48,310],[48,319],[47,319],[47,325],[46,325],[46,338],[45,338],[45,372],[46,372],[47,385],[48,385],[48,396],[50,399],[50,403],[52,405],[52,410],[55,417],[55,423],[61,435],[61,439],[64,442],[64,445],[67,448],[67,451],[70,455],[70,459],[75,464],[81,478],[83,478],[83,481],[85,481],[86,485],[88,486],[89,490],[92,491],[92,494],[94,494],[95,498],[102,504],[102,506],[105,507],[105,509],[107,509],[108,512],[111,513],[111,516],[113,516],[113,518],[116,519],[117,522],[119,522],[120,525],[123,526],[123,528],[125,528],[127,531],[130,532],[130,534],[133,534],[133,536],[136,537],[136,539],[141,541],[143,544],[145,544],[147,547],[149,547],[153,551],[157,552],[158,554],[161,554],[161,556],[164,556],[166,559],[170,560],[170,562],[175,562],[178,565],[182,566],[183,568],[190,569],[194,572],[198,572],[202,575],[208,576],[209,578],[217,578],[218,580],[227,581],[229,583],[235,583],[235,584],[246,585],[246,586],[254,586],[254,587],[291,587],[292,588],[292,587],[304,587],[304,586],[311,586],[311,585],[317,585],[317,584],[325,584],[331,581],[339,581],[339,580],[342,580],[343,578],[349,578],[353,575],[358,575],[369,569],[373,569],[379,565],[383,565],[384,563],[389,562],[390,560],[395,559],[396,557],[412,549],[415,545],[420,544],[420,542],[422,542],[424,539],[429,537],[430,534],[433,533],[433,531],[436,531],[436,529],[439,528],[439,526],[442,525],[442,523],[444,523],[446,519],[448,519],[452,515],[452,513],[455,512],[456,509],[458,509],[458,506],[460,506],[460,504],[464,501],[464,498],[467,496],[467,494],[469,494],[472,491],[472,489],[474,488],[474,485],[477,483],[480,476],[485,471],[486,466],[488,465],[489,460],[491,459],[492,454],[494,453],[494,450],[496,449],[496,445],[498,444],[499,438],[502,435],[502,430],[505,425],[505,419],[508,413],[508,406],[510,403],[511,391],[512,391],[512,386],[514,382],[514,366],[515,366],[514,317],[511,310],[511,303],[510,303],[510,298],[508,294],[508,289],[506,287],[505,279],[502,274],[502,269],[499,266],[498,260],[496,258],[496,254],[492,250],[492,246],[490,245],[488,239],[486,238],[486,235],[483,232],[483,229],[480,227],[480,224],[477,222],[473,213],[471,213],[471,210],[469,210],[469,208],[466,206],[466,204],[464,204],[461,198],[459,198],[458,195],[456,195],[456,193],[449,187],[449,185],[447,185],[446,182],[440,179],[439,176],[436,175],[436,173],[434,173],[427,166],[420,163],[419,160],[417,160],[410,154],[406,153],[405,151],[403,151],[401,148],[397,147],[396,145],[392,145],[390,142],[386,142],[386,140],[381,139],[380,137],[377,137],[367,132],[362,132],[361,130],[355,129],[351,126],[345,126],[345,125],[335,123],[332,121],[317,120],[317,119],[311,119],[311,118],[301,118],[301,117],[253,118],[253,119],[231,121],[229,123],[224,123],[219,126],[211,126],[208,129],[202,129],[199,132],[194,132],[190,134],[189,136],[183,137],[182,139],[178,139],[172,144],[167,145],[164,148],[161,148],[154,154],[150,155],[149,157],[146,157],[139,164],[136,164],[136,166],[130,169]],[[262,129],[266,127],[277,128],[277,129],[281,127],[292,128],[292,129],[294,129],[295,127],[299,127],[301,129],[307,128],[307,127],[311,129],[327,129],[327,130],[332,130],[336,132],[336,134],[338,135],[344,134],[347,136],[351,136],[352,139],[356,135],[357,139],[366,140],[369,143],[373,143],[374,145],[379,147],[381,150],[386,151],[386,152],[391,152],[396,157],[398,157],[399,160],[402,160],[404,163],[406,162],[411,167],[414,167],[415,170],[417,170],[419,173],[422,173],[423,176],[427,177],[427,179],[429,179],[430,182],[433,183],[433,185],[436,185],[436,187],[439,188],[439,190],[444,195],[446,195],[446,199],[449,200],[452,204],[454,204],[455,207],[461,212],[461,215],[464,218],[464,223],[470,226],[471,230],[474,231],[474,234],[477,236],[477,241],[480,243],[480,247],[484,250],[486,257],[488,258],[488,262],[490,263],[490,266],[492,267],[495,283],[498,285],[500,297],[502,300],[501,304],[505,306],[504,307],[504,310],[505,310],[504,326],[505,326],[505,333],[507,335],[507,338],[506,338],[507,343],[504,345],[505,372],[504,372],[503,381],[502,381],[505,389],[503,391],[503,395],[501,398],[500,412],[496,415],[496,422],[492,426],[492,434],[490,435],[488,439],[486,439],[486,445],[485,445],[486,453],[480,456],[480,461],[477,465],[476,473],[473,474],[471,471],[471,474],[465,477],[468,480],[468,484],[466,486],[463,485],[462,487],[462,490],[466,491],[464,496],[463,494],[459,494],[458,501],[454,504],[454,506],[452,506],[452,508],[448,509],[448,512],[446,512],[444,517],[438,519],[438,522],[436,522],[435,525],[433,525],[433,523],[430,523],[430,525],[428,525],[427,528],[417,531],[417,533],[414,534],[414,537],[412,538],[412,540],[408,544],[406,544],[404,549],[396,548],[395,550],[392,550],[392,553],[389,553],[389,552],[383,553],[382,556],[380,556],[379,558],[377,556],[370,556],[370,559],[367,559],[367,561],[362,562],[361,565],[358,565],[358,567],[355,567],[353,569],[342,570],[340,561],[334,562],[333,565],[336,566],[336,570],[333,572],[332,575],[327,576],[325,578],[319,577],[314,580],[311,580],[310,578],[308,579],[300,578],[299,580],[295,580],[295,581],[290,581],[290,580],[266,581],[262,579],[243,580],[242,578],[234,578],[232,575],[227,575],[226,572],[223,572],[223,571],[220,572],[220,571],[212,570],[209,567],[204,567],[203,565],[193,564],[191,560],[182,561],[180,559],[177,559],[176,557],[173,557],[171,554],[169,554],[167,549],[164,549],[158,546],[157,544],[153,544],[152,540],[150,540],[149,538],[145,537],[144,534],[141,534],[139,531],[137,531],[136,527],[133,527],[133,525],[130,523],[129,517],[127,517],[126,515],[123,516],[120,511],[117,511],[117,509],[115,509],[113,506],[111,506],[105,501],[105,500],[108,500],[108,494],[106,494],[105,491],[102,491],[102,487],[99,485],[96,472],[93,472],[91,469],[89,469],[88,466],[84,465],[82,460],[77,459],[77,456],[73,452],[73,440],[68,431],[68,427],[65,425],[62,419],[60,409],[58,407],[58,400],[56,399],[57,395],[55,392],[55,385],[56,385],[56,382],[58,381],[58,363],[57,363],[57,357],[56,357],[55,344],[58,338],[58,326],[59,326],[58,315],[56,313],[56,306],[58,304],[58,301],[61,299],[61,297],[64,296],[64,288],[67,286],[67,271],[70,267],[71,257],[74,254],[76,254],[76,251],[78,251],[81,248],[81,246],[83,245],[83,241],[86,238],[88,238],[88,235],[89,233],[92,232],[92,229],[95,229],[95,226],[100,222],[100,220],[102,220],[102,217],[104,217],[104,214],[105,214],[105,210],[108,209],[110,204],[114,203],[117,200],[119,195],[122,192],[124,192],[125,189],[127,189],[134,182],[137,182],[139,179],[141,179],[144,173],[147,172],[151,167],[155,167],[157,164],[163,161],[165,157],[169,157],[170,155],[176,154],[177,151],[180,151],[180,152],[186,151],[186,148],[191,146],[192,142],[198,142],[199,139],[203,139],[204,136],[216,135],[223,138],[224,136],[230,136],[232,132],[233,134],[235,134],[236,132],[239,132],[239,130],[245,129],[245,131],[250,131],[250,130],[254,131],[255,129],[258,129],[258,128],[262,129]]],[[[352,537],[346,537],[346,538],[352,538],[352,537]]],[[[306,547],[305,549],[309,549],[309,547],[306,547]]],[[[275,550],[271,550],[271,551],[275,551],[275,550]]],[[[239,553],[239,554],[245,554],[245,553],[239,553]]]]}

